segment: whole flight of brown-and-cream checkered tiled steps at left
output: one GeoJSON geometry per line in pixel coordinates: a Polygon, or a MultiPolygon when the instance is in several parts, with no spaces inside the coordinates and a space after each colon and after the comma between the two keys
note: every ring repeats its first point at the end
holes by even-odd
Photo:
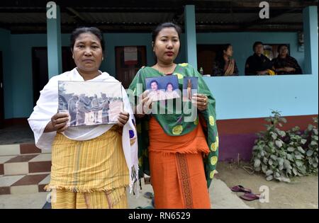
{"type": "Polygon", "coordinates": [[[51,154],[35,144],[0,145],[0,195],[43,192],[50,181],[51,154]]]}

